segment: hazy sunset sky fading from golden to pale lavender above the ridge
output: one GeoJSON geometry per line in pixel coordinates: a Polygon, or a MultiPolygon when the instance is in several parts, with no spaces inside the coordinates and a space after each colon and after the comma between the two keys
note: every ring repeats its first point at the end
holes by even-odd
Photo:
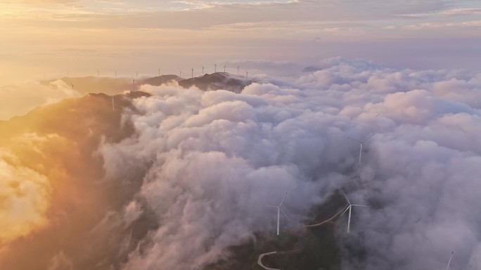
{"type": "Polygon", "coordinates": [[[480,1],[0,0],[0,85],[225,60],[480,69],[480,1]]]}

